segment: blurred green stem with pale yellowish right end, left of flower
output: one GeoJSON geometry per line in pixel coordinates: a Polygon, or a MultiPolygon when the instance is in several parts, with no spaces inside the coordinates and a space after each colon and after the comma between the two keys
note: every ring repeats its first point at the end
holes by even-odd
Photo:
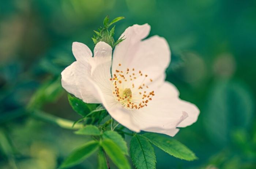
{"type": "Polygon", "coordinates": [[[58,125],[64,129],[71,129],[71,130],[76,130],[76,129],[81,129],[83,128],[83,125],[80,123],[76,123],[74,126],[74,121],[63,119],[60,117],[56,117],[54,115],[45,113],[44,111],[41,110],[35,110],[31,113],[31,116],[37,119],[41,119],[46,122],[53,123],[55,125],[58,125]],[[72,127],[73,126],[73,127],[72,127]]]}

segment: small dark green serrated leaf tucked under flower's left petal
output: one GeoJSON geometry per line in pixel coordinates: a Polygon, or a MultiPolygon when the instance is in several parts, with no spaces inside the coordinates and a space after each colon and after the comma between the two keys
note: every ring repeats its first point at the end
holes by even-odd
{"type": "Polygon", "coordinates": [[[76,113],[82,116],[90,113],[90,109],[87,104],[84,103],[81,99],[72,96],[71,94],[68,94],[68,102],[76,113]]]}

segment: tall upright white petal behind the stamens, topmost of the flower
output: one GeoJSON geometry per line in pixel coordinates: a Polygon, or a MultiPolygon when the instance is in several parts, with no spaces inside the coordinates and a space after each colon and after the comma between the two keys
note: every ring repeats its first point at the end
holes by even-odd
{"type": "MultiPolygon", "coordinates": [[[[112,72],[114,72],[118,64],[121,63],[123,70],[126,68],[135,68],[135,71],[142,71],[147,74],[148,78],[153,79],[155,84],[161,85],[164,79],[166,68],[170,64],[170,48],[164,38],[152,36],[141,41],[145,36],[138,36],[137,31],[149,31],[150,27],[146,24],[133,25],[125,30],[125,40],[116,46],[113,54],[112,72]]],[[[144,33],[143,35],[147,35],[144,33]]],[[[144,76],[138,76],[135,80],[136,84],[140,84],[144,76]]],[[[148,84],[149,80],[145,84],[148,84]]]]}

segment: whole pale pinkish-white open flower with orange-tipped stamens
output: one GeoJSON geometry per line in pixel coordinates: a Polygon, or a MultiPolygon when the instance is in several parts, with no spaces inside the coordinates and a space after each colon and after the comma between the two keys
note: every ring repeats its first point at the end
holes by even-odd
{"type": "Polygon", "coordinates": [[[196,122],[199,109],[179,98],[165,82],[170,49],[164,38],[148,36],[150,25],[128,27],[113,52],[105,42],[91,50],[74,42],[76,61],[61,73],[62,86],[86,103],[102,103],[109,114],[132,131],[174,136],[196,122]],[[110,71],[111,70],[111,71],[110,71]]]}

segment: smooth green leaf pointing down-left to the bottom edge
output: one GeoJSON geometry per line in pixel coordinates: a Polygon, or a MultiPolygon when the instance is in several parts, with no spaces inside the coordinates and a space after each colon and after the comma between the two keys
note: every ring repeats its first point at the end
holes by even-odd
{"type": "Polygon", "coordinates": [[[93,154],[99,147],[99,142],[90,141],[80,148],[72,152],[66,160],[61,164],[60,168],[68,168],[84,161],[87,157],[93,154]]]}

